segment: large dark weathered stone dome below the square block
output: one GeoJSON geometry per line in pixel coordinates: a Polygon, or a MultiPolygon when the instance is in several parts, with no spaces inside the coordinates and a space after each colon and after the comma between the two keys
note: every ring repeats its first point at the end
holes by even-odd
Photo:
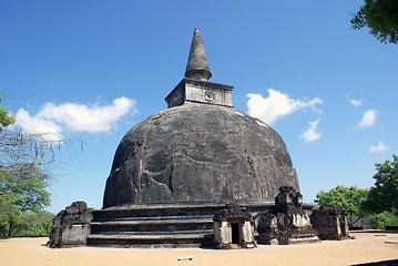
{"type": "Polygon", "coordinates": [[[130,130],[114,156],[103,207],[274,202],[298,191],[280,136],[233,108],[184,104],[130,130]]]}

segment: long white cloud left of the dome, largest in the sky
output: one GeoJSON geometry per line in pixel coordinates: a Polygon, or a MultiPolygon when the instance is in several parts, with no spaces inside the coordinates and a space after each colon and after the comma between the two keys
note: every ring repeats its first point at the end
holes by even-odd
{"type": "Polygon", "coordinates": [[[16,124],[28,133],[48,133],[61,139],[62,132],[111,132],[121,116],[135,111],[135,101],[124,96],[104,106],[47,103],[33,116],[23,109],[18,110],[16,124]]]}

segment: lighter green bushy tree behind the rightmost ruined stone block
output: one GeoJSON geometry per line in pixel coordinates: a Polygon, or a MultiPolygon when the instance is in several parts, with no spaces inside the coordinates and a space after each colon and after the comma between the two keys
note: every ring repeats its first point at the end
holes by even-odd
{"type": "Polygon", "coordinates": [[[348,213],[348,223],[354,225],[366,214],[361,208],[363,202],[368,194],[368,190],[356,186],[336,186],[328,192],[320,191],[316,194],[315,203],[323,207],[340,207],[348,213]]]}

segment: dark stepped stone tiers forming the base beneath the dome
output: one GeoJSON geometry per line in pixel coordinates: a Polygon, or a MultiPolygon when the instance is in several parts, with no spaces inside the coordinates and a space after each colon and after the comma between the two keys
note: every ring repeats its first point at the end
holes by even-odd
{"type": "MultiPolygon", "coordinates": [[[[241,204],[256,215],[274,203],[241,204]]],[[[212,247],[213,216],[225,203],[201,205],[131,205],[93,211],[88,246],[212,247]]],[[[307,206],[312,209],[312,205],[307,206]]]]}

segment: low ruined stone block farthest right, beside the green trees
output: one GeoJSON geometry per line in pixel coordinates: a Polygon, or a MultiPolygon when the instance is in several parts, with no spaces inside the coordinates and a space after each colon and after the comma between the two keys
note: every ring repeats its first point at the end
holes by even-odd
{"type": "Polygon", "coordinates": [[[348,235],[347,212],[338,207],[314,209],[310,222],[320,239],[346,239],[348,235]]]}

